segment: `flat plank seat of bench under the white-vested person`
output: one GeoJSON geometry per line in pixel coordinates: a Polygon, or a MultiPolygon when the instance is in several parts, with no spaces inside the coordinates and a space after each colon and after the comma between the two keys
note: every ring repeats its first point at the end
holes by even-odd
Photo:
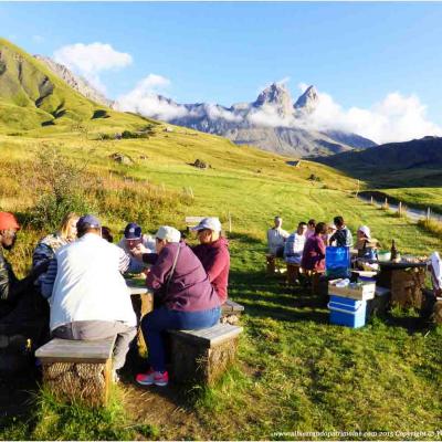
{"type": "Polygon", "coordinates": [[[59,361],[103,361],[112,358],[115,336],[99,340],[54,338],[35,351],[35,357],[59,361]]]}

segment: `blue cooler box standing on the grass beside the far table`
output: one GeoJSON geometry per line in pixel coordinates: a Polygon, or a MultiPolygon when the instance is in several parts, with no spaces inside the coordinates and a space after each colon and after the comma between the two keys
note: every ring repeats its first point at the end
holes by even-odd
{"type": "Polygon", "coordinates": [[[359,328],[366,325],[367,301],[330,295],[330,323],[359,328]]]}

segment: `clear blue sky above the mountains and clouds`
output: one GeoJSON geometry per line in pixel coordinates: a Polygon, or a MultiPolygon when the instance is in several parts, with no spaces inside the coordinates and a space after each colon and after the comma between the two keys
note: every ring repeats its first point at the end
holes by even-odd
{"type": "Polygon", "coordinates": [[[109,96],[149,74],[180,103],[250,102],[290,77],[344,108],[370,108],[389,93],[415,94],[442,125],[442,3],[0,3],[1,35],[30,53],[74,43],[129,54],[103,70],[109,96]]]}

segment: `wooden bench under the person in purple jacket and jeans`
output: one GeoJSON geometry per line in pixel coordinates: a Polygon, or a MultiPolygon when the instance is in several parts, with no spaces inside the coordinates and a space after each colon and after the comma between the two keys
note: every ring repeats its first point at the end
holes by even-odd
{"type": "Polygon", "coordinates": [[[169,330],[171,378],[213,383],[233,362],[242,327],[217,324],[201,330],[169,330]]]}

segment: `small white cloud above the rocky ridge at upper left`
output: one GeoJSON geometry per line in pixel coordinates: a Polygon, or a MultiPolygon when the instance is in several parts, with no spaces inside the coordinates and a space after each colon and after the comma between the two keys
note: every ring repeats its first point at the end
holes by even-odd
{"type": "Polygon", "coordinates": [[[70,44],[54,52],[54,60],[72,71],[83,75],[95,87],[105,92],[99,73],[118,70],[131,64],[133,59],[125,52],[116,51],[110,44],[70,44]]]}

